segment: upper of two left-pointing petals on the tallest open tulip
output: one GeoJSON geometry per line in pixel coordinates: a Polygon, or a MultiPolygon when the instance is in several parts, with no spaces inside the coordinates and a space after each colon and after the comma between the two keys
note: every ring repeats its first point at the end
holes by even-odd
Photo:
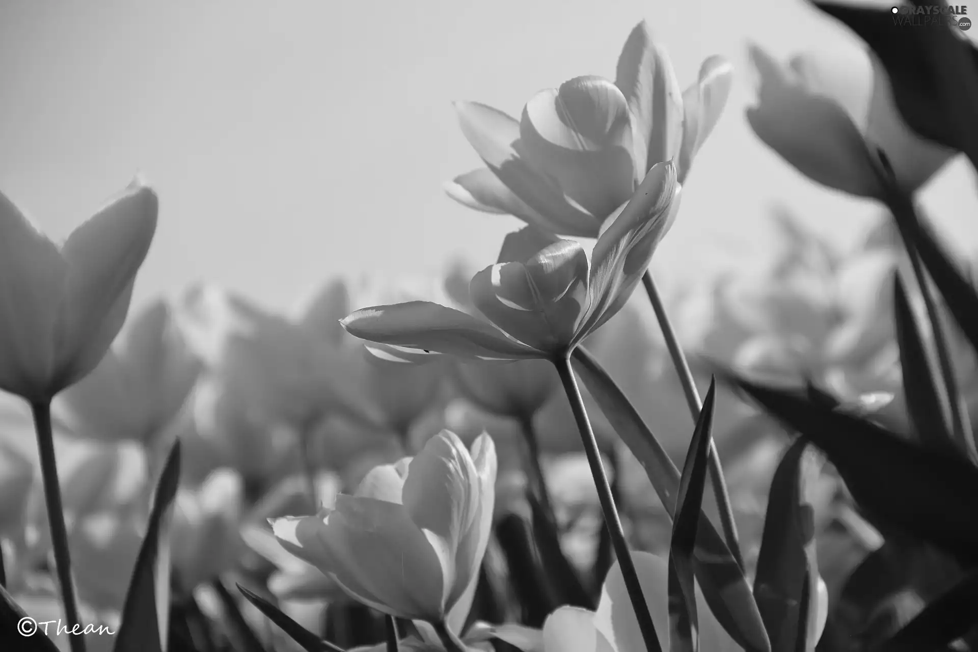
{"type": "Polygon", "coordinates": [[[458,102],[455,109],[468,143],[489,170],[540,216],[542,222],[534,226],[567,236],[594,237],[599,220],[573,203],[549,171],[537,170],[517,153],[519,122],[475,102],[458,102]]]}

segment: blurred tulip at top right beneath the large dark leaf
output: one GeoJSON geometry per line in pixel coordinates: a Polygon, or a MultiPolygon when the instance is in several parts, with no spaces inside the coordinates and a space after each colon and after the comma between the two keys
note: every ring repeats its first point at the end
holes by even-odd
{"type": "Polygon", "coordinates": [[[750,56],[760,87],[747,120],[768,147],[813,181],[882,198],[870,154],[878,148],[912,193],[954,154],[911,131],[894,105],[885,69],[855,43],[797,56],[786,68],[757,46],[750,56]]]}

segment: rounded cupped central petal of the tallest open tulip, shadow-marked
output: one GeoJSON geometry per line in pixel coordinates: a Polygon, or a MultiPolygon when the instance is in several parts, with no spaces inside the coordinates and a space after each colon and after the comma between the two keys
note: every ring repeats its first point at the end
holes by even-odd
{"type": "Polygon", "coordinates": [[[645,176],[633,146],[628,102],[601,77],[575,77],[541,91],[526,103],[519,123],[520,156],[599,225],[645,176]]]}

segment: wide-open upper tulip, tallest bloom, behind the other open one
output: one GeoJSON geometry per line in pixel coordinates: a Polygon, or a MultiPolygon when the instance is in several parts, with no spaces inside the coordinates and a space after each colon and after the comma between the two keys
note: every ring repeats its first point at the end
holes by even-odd
{"type": "Polygon", "coordinates": [[[711,57],[681,92],[665,49],[641,22],[614,82],[575,77],[538,93],[518,121],[485,105],[456,104],[487,167],[457,177],[446,191],[470,208],[513,215],[549,233],[597,238],[656,164],[674,160],[685,183],[731,81],[730,63],[711,57]]]}

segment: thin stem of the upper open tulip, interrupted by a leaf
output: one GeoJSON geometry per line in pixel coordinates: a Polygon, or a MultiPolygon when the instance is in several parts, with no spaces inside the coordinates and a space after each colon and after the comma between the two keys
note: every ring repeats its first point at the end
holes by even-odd
{"type": "MultiPolygon", "coordinates": [[[[672,358],[673,368],[676,369],[676,374],[679,375],[679,381],[683,385],[683,393],[686,394],[686,403],[689,407],[689,414],[692,416],[692,422],[696,423],[699,420],[699,413],[703,409],[703,402],[699,398],[699,391],[696,389],[696,382],[692,378],[692,371],[689,370],[686,354],[683,353],[683,347],[680,346],[679,339],[676,337],[676,331],[673,330],[672,323],[669,321],[665,304],[662,303],[662,297],[659,295],[658,288],[652,280],[651,272],[645,270],[642,283],[645,285],[645,293],[648,294],[648,300],[652,304],[652,310],[655,311],[655,319],[658,320],[659,327],[662,329],[662,337],[666,342],[666,348],[669,349],[669,356],[672,358]]],[[[717,500],[717,507],[719,507],[720,525],[724,531],[724,538],[727,540],[727,545],[730,547],[737,565],[743,570],[743,555],[740,552],[736,524],[733,522],[731,497],[727,492],[724,469],[720,465],[720,454],[717,453],[716,443],[712,440],[710,441],[709,464],[710,484],[713,486],[713,496],[717,500]]]]}

